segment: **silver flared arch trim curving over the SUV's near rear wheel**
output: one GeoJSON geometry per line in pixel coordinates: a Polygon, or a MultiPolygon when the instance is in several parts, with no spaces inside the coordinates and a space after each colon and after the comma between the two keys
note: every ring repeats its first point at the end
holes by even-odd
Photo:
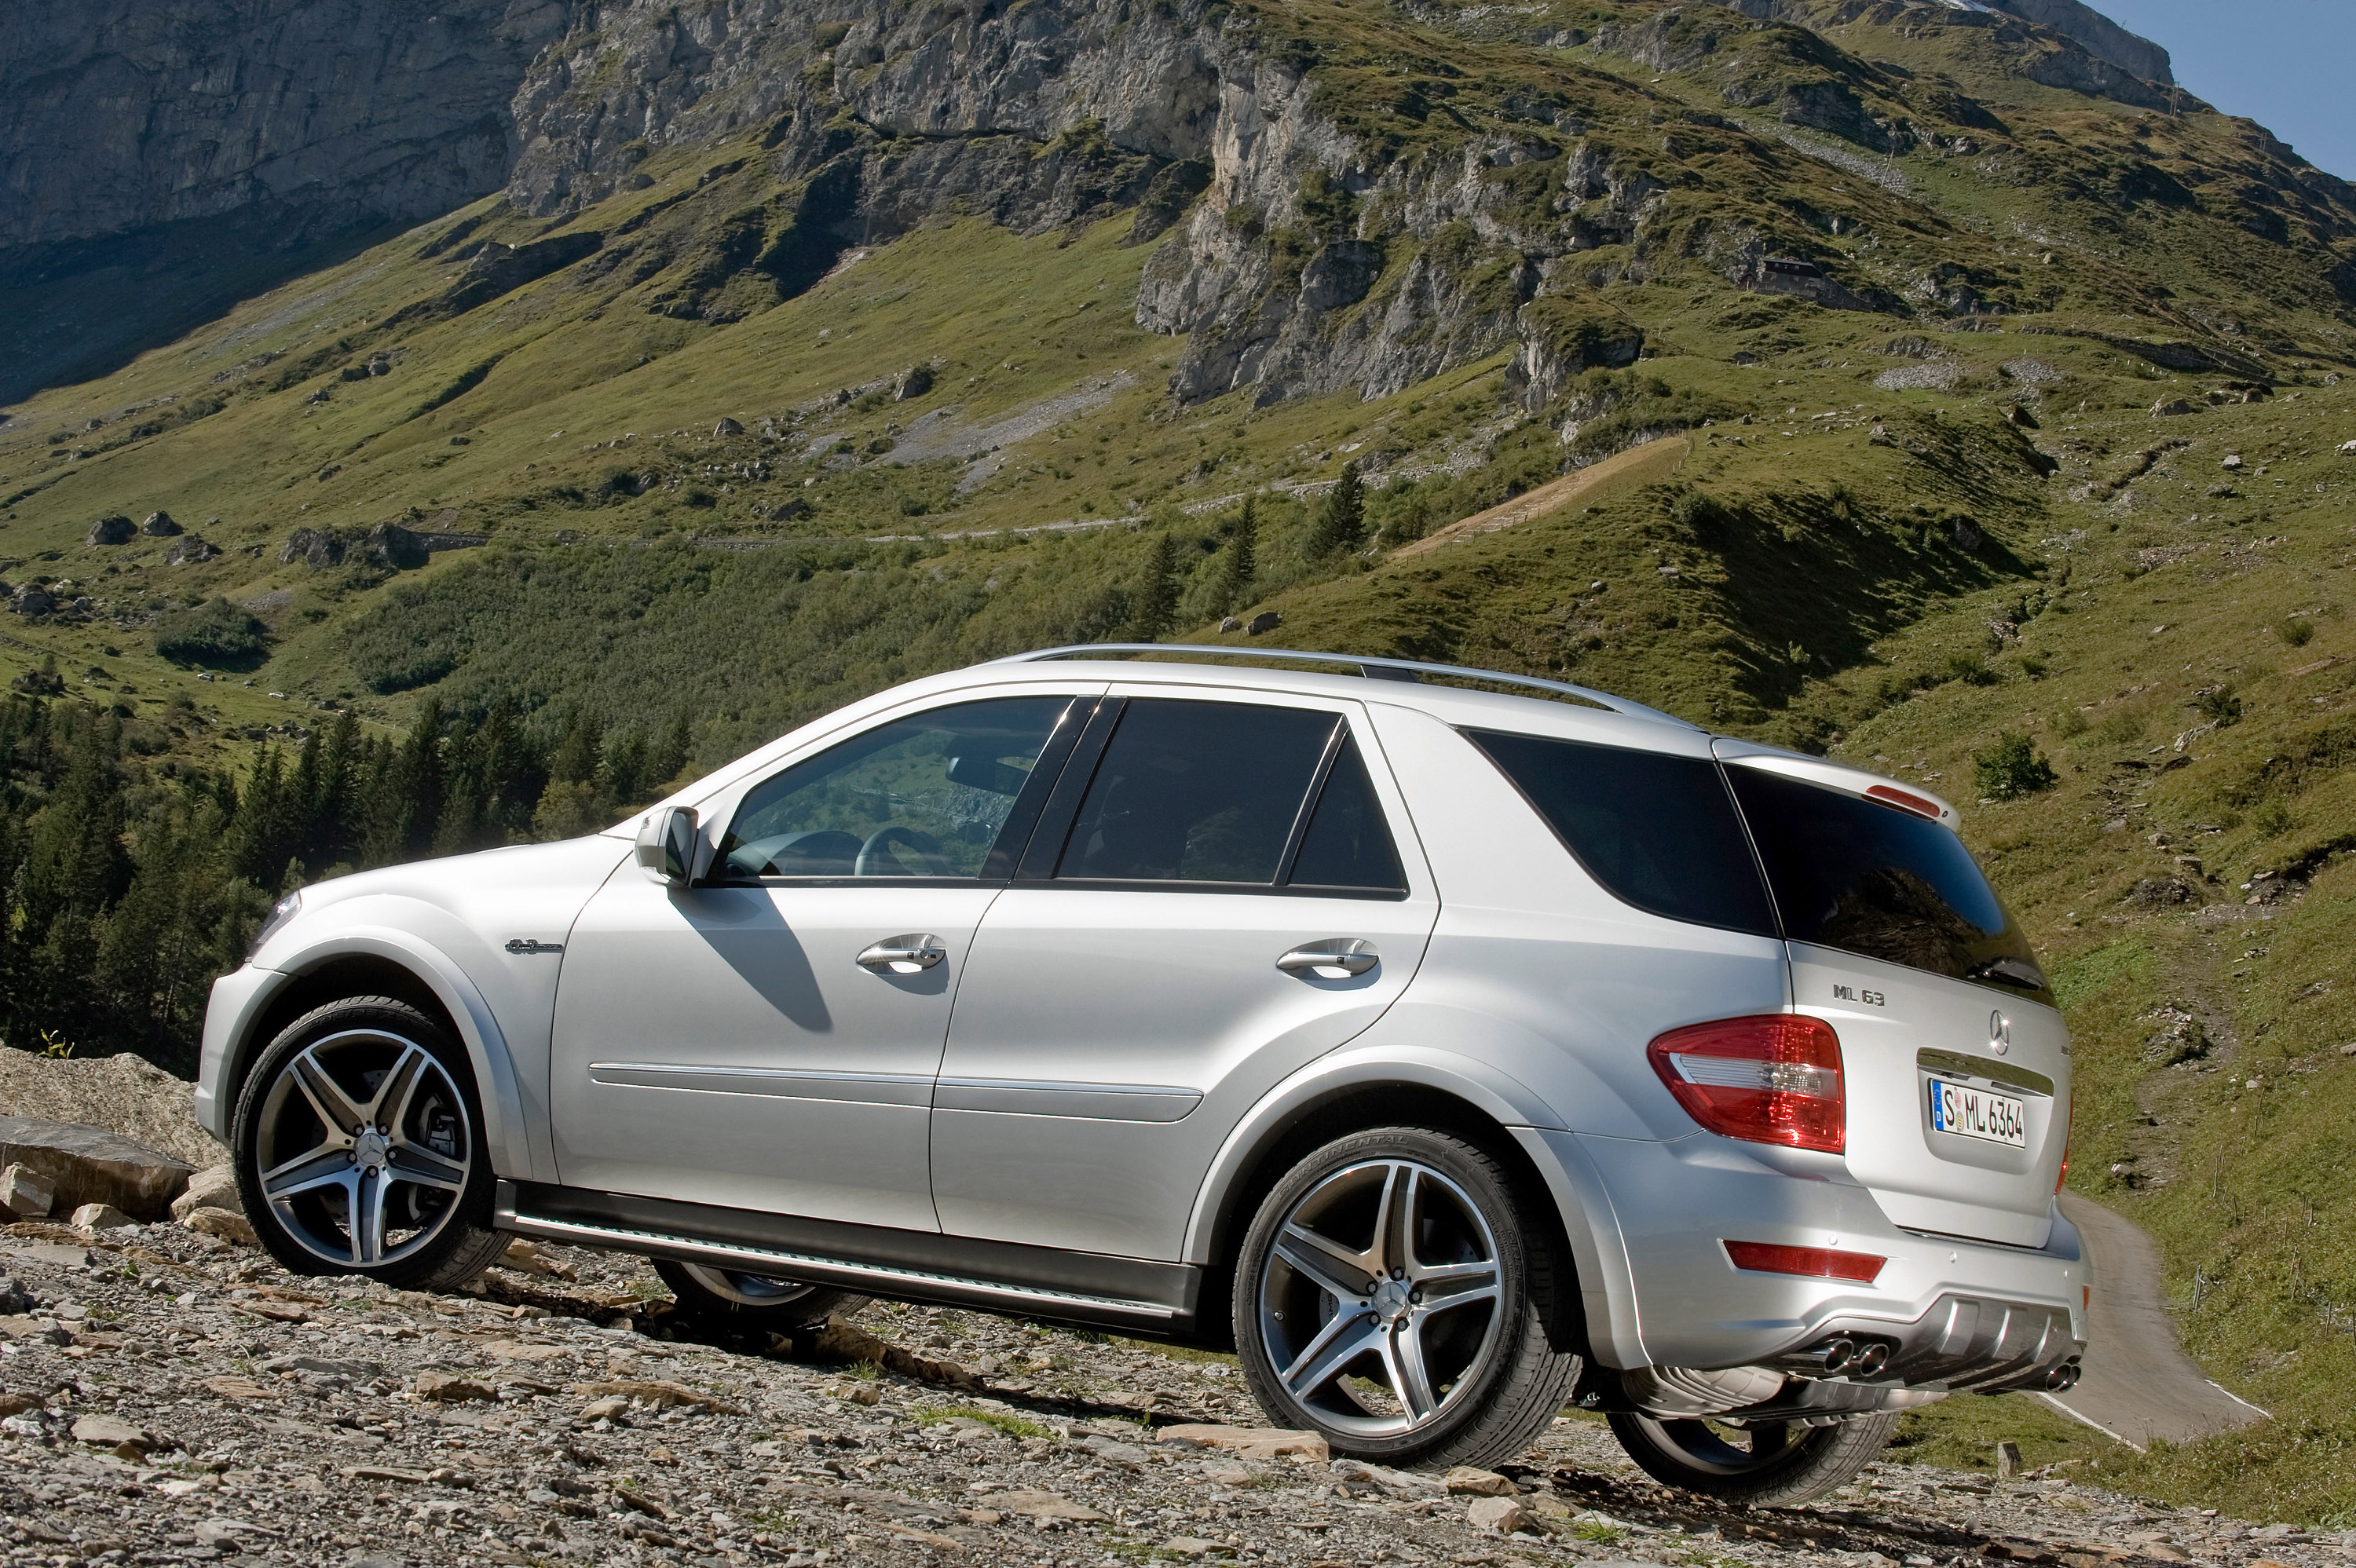
{"type": "Polygon", "coordinates": [[[1425,1088],[1451,1095],[1505,1128],[1538,1168],[1548,1196],[1562,1212],[1595,1349],[1607,1363],[1644,1366],[1642,1344],[1635,1337],[1635,1285],[1628,1274],[1628,1248],[1621,1241],[1612,1198],[1579,1149],[1579,1140],[1562,1132],[1562,1118],[1527,1083],[1480,1057],[1437,1045],[1374,1041],[1371,1034],[1390,1034],[1388,1019],[1369,1036],[1359,1036],[1357,1043],[1310,1062],[1275,1085],[1235,1125],[1194,1196],[1183,1257],[1197,1264],[1216,1262],[1213,1248],[1230,1196],[1246,1180],[1260,1151],[1282,1137],[1303,1111],[1352,1088],[1425,1088]]]}

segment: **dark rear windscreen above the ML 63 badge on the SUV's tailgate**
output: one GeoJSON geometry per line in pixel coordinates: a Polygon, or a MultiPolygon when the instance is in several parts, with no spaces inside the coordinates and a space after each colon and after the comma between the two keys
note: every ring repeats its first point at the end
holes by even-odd
{"type": "Polygon", "coordinates": [[[1793,942],[2050,1001],[2029,939],[1951,831],[1758,768],[1727,775],[1793,942]]]}

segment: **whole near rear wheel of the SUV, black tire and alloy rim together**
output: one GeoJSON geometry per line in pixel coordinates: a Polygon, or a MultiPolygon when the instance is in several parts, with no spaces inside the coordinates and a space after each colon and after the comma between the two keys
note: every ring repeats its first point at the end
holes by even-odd
{"type": "Polygon", "coordinates": [[[1341,1137],[1277,1182],[1244,1236],[1244,1377],[1275,1424],[1355,1460],[1513,1460],[1579,1380],[1560,1333],[1576,1285],[1553,1236],[1553,1215],[1461,1137],[1341,1137]]]}

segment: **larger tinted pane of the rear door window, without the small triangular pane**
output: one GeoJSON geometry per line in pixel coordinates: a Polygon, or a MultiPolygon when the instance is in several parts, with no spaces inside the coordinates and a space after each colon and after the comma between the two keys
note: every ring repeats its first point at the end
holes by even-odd
{"type": "Polygon", "coordinates": [[[1333,723],[1242,702],[1131,702],[1055,876],[1275,883],[1333,723]]]}

